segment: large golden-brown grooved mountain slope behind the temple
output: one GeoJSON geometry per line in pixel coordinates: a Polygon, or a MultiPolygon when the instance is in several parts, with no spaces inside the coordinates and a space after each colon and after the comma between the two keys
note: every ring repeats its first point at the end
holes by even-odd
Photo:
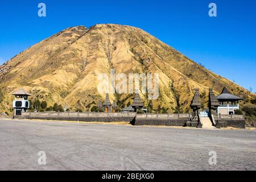
{"type": "MultiPolygon", "coordinates": [[[[208,89],[218,94],[226,86],[246,99],[255,94],[208,71],[141,28],[119,24],[69,27],[31,46],[0,66],[0,89],[5,99],[0,110],[10,110],[9,93],[24,86],[35,98],[50,105],[68,104],[73,110],[89,110],[105,96],[97,93],[97,75],[114,68],[117,73],[159,73],[160,97],[154,110],[189,111],[195,88],[200,88],[207,107],[208,89]],[[94,101],[94,102],[93,102],[94,101]],[[7,106],[6,106],[7,105],[7,106]]],[[[116,100],[110,94],[110,100],[116,100]]],[[[141,94],[147,103],[146,96],[141,94]]],[[[119,106],[126,106],[133,96],[124,95],[119,106]],[[126,99],[125,99],[126,98],[126,99]]],[[[242,104],[243,105],[243,104],[242,104]]]]}

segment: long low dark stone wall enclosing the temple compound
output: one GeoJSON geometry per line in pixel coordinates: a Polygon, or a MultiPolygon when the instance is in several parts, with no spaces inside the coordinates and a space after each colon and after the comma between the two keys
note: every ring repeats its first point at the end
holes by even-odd
{"type": "MultiPolygon", "coordinates": [[[[75,113],[75,112],[27,112],[21,118],[48,119],[58,121],[84,122],[130,122],[132,125],[153,126],[190,126],[197,127],[198,122],[192,121],[191,114],[137,114],[137,113],[75,113]]],[[[237,127],[245,129],[243,115],[214,116],[216,127],[237,127]]]]}

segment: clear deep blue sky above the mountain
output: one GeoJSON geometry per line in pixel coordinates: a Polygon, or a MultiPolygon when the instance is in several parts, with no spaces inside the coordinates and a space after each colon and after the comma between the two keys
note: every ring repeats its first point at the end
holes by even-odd
{"type": "Polygon", "coordinates": [[[142,28],[205,68],[256,92],[256,1],[1,1],[0,64],[67,27],[142,28]],[[46,17],[38,4],[46,4],[46,17]],[[208,5],[217,5],[209,17],[208,5]]]}

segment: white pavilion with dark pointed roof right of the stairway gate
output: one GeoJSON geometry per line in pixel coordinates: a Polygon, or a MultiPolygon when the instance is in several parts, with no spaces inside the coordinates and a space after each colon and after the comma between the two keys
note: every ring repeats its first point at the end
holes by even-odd
{"type": "Polygon", "coordinates": [[[243,100],[241,97],[230,94],[226,87],[216,99],[219,102],[218,114],[234,114],[234,111],[239,109],[239,101],[243,100]]]}

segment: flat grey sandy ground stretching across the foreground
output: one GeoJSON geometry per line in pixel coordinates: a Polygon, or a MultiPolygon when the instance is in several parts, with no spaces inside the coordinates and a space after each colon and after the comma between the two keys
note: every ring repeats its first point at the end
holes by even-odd
{"type": "Polygon", "coordinates": [[[0,170],[255,170],[255,156],[256,130],[0,119],[0,170]]]}

